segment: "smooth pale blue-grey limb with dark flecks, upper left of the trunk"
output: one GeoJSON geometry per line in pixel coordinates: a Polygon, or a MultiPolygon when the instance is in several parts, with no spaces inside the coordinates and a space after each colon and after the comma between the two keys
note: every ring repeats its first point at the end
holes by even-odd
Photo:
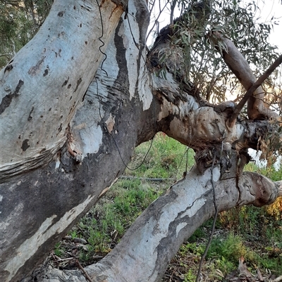
{"type": "Polygon", "coordinates": [[[7,124],[0,128],[1,151],[9,152],[1,155],[1,182],[54,160],[104,58],[97,38],[103,35],[108,44],[122,13],[123,6],[110,0],[101,7],[55,1],[35,37],[0,72],[1,122],[7,124]],[[107,19],[104,34],[99,9],[107,19]]]}

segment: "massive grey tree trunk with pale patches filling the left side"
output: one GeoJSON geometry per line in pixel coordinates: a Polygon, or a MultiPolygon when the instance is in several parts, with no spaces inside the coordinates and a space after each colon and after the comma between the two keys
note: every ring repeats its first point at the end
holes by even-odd
{"type": "Polygon", "coordinates": [[[108,2],[100,8],[110,43],[92,84],[104,58],[96,1],[56,1],[1,72],[1,281],[42,262],[156,132],[142,58],[147,4],[130,3],[133,39],[128,21],[118,23],[121,5],[108,2]]]}

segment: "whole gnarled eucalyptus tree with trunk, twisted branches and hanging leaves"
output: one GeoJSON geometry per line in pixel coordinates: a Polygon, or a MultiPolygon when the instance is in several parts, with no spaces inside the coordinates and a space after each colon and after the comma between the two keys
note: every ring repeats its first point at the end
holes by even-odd
{"type": "Polygon", "coordinates": [[[280,149],[278,113],[244,58],[262,72],[278,58],[269,26],[236,1],[170,4],[183,13],[147,50],[146,1],[56,0],[1,70],[1,281],[85,281],[79,271],[33,270],[123,173],[135,146],[160,131],[193,148],[197,166],[87,267],[92,281],[159,281],[215,212],[282,195],[280,182],[243,173],[248,148],[280,149]],[[253,87],[238,105],[223,96],[230,72],[253,87]]]}

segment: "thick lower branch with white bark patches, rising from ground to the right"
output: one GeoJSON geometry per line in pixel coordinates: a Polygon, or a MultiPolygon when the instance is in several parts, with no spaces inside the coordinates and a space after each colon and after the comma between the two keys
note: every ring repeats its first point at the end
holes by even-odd
{"type": "MultiPolygon", "coordinates": [[[[235,188],[235,173],[231,178],[220,180],[217,166],[213,176],[219,212],[243,204],[238,203],[240,190],[235,188]]],[[[244,204],[269,205],[281,196],[281,185],[259,174],[245,172],[242,184],[248,187],[244,192],[244,204]]],[[[213,216],[213,193],[210,169],[204,174],[200,174],[196,167],[191,169],[184,179],[171,186],[166,195],[154,201],[137,218],[114,250],[97,264],[85,267],[92,281],[159,281],[183,241],[213,216]]],[[[78,271],[49,269],[39,281],[50,281],[47,277],[51,277],[52,282],[66,281],[64,276],[68,279],[77,277],[78,271]]],[[[79,281],[79,278],[72,281],[79,281]]]]}

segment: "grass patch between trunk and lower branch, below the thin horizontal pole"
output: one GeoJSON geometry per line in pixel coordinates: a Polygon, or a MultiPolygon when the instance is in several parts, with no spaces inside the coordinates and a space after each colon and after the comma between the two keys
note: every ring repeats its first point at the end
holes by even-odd
{"type": "Polygon", "coordinates": [[[87,248],[80,250],[80,262],[93,263],[96,261],[93,257],[111,251],[137,216],[162,192],[162,189],[142,184],[139,179],[114,184],[107,196],[70,232],[72,237],[87,241],[87,248]]]}

